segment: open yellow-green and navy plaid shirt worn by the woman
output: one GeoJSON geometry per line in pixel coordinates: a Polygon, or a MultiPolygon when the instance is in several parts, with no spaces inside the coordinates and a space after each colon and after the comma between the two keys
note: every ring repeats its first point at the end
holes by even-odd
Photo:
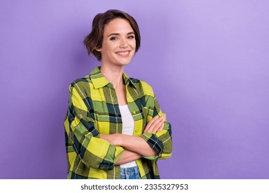
{"type": "MultiPolygon", "coordinates": [[[[136,161],[141,179],[159,179],[157,159],[172,154],[170,123],[157,133],[143,129],[152,117],[164,116],[150,85],[131,79],[123,73],[128,108],[135,120],[134,135],[141,136],[157,156],[143,156],[136,161]]],[[[120,167],[114,165],[123,148],[101,139],[99,134],[116,134],[122,131],[117,95],[100,68],[70,84],[68,113],[64,121],[68,179],[119,179],[120,167]]]]}

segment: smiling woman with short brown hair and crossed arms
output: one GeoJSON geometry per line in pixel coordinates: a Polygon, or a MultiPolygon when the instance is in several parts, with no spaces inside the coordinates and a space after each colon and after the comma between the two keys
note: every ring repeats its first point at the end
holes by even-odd
{"type": "Polygon", "coordinates": [[[119,10],[97,14],[83,43],[101,67],[69,87],[68,179],[159,179],[170,124],[150,85],[123,72],[139,50],[137,22],[119,10]]]}

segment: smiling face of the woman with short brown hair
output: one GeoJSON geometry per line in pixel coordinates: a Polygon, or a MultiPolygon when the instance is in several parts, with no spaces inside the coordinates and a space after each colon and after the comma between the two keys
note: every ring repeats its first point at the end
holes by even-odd
{"type": "Polygon", "coordinates": [[[102,65],[127,65],[135,54],[135,32],[126,19],[116,18],[103,31],[102,65]]]}

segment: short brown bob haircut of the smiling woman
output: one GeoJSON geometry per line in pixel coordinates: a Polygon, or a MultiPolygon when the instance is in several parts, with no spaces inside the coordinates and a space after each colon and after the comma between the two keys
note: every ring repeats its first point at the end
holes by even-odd
{"type": "Polygon", "coordinates": [[[88,50],[88,54],[93,54],[98,61],[101,61],[101,52],[98,52],[95,49],[102,47],[103,29],[110,21],[116,18],[122,18],[129,21],[132,30],[135,32],[135,52],[137,52],[140,47],[140,32],[137,21],[126,12],[120,10],[108,10],[104,13],[99,13],[94,17],[92,21],[92,31],[83,41],[88,50]]]}

